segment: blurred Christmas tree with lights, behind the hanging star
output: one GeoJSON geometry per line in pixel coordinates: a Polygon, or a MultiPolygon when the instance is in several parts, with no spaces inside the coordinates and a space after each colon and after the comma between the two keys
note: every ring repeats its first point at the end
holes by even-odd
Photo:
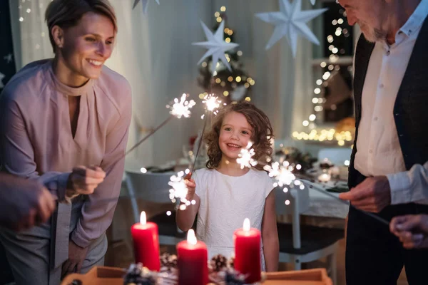
{"type": "MultiPolygon", "coordinates": [[[[222,21],[227,21],[225,11],[225,6],[222,6],[220,12],[215,12],[216,24],[213,31],[217,30],[222,21]]],[[[225,25],[224,33],[224,38],[227,43],[234,42],[234,31],[228,28],[227,25],[225,25]]],[[[254,86],[255,81],[243,70],[243,63],[240,61],[242,55],[243,52],[239,51],[238,48],[225,52],[231,71],[219,61],[216,63],[215,72],[211,74],[210,67],[213,64],[213,58],[211,56],[201,63],[198,85],[205,90],[205,94],[215,93],[223,103],[251,100],[250,90],[251,87],[254,86]]],[[[201,96],[203,96],[203,94],[201,94],[201,96]]]]}

